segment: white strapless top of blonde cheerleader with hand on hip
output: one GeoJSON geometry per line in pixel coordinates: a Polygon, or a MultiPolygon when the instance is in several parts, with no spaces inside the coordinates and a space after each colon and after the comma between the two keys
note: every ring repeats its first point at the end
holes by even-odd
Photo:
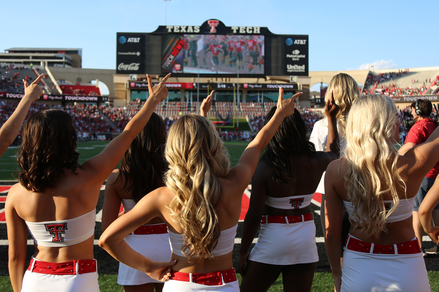
{"type": "MultiPolygon", "coordinates": [[[[227,253],[230,253],[233,250],[233,245],[235,243],[236,229],[238,225],[236,224],[234,227],[221,231],[221,234],[218,239],[218,243],[215,248],[212,250],[212,255],[214,257],[223,256],[227,253]]],[[[174,233],[169,231],[169,243],[171,245],[171,250],[174,254],[180,257],[186,257],[181,249],[184,246],[184,238],[183,234],[174,233]]]]}

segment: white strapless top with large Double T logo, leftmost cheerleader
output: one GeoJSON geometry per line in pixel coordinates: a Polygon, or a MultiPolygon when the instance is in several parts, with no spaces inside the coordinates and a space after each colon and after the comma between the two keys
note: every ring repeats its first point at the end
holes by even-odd
{"type": "Polygon", "coordinates": [[[96,209],[67,220],[25,222],[34,243],[49,247],[70,246],[82,243],[93,236],[96,209]]]}

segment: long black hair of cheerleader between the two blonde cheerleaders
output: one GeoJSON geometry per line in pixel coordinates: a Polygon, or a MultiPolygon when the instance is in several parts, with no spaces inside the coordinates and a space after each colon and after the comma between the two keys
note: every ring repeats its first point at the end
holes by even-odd
{"type": "MultiPolygon", "coordinates": [[[[267,124],[276,112],[277,106],[273,106],[267,114],[267,124]]],[[[316,153],[316,147],[306,137],[306,125],[297,109],[294,114],[287,116],[277,128],[273,138],[265,148],[261,161],[273,169],[273,180],[276,183],[288,183],[294,181],[291,176],[290,155],[309,155],[316,153]]]]}

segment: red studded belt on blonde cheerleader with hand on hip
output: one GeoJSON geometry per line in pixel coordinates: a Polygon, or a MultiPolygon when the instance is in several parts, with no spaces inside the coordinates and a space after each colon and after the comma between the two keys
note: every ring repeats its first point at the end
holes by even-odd
{"type": "Polygon", "coordinates": [[[227,271],[218,271],[207,274],[181,273],[171,271],[171,276],[169,277],[169,280],[192,282],[207,286],[216,286],[223,285],[223,281],[224,284],[236,281],[236,273],[234,268],[227,271]]]}

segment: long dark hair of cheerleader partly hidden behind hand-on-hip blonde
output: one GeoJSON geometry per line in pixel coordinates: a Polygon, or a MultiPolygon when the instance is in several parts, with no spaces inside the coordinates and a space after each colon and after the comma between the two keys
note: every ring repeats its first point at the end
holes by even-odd
{"type": "MultiPolygon", "coordinates": [[[[164,158],[166,126],[162,118],[152,113],[146,126],[125,152],[119,167],[118,180],[125,178],[122,190],[133,191],[137,203],[147,193],[164,186],[163,175],[167,170],[164,158]]],[[[121,191],[122,191],[121,190],[121,191]]]]}

